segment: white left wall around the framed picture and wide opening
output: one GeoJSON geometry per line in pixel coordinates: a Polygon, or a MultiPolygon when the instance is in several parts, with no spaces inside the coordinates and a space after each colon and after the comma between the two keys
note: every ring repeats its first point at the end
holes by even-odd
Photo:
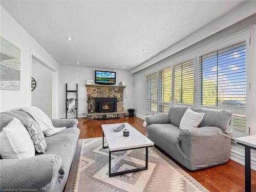
{"type": "MultiPolygon", "coordinates": [[[[20,91],[1,90],[0,112],[31,104],[31,55],[40,59],[53,71],[58,63],[29,33],[1,6],[1,34],[20,49],[20,91]]],[[[55,109],[56,110],[56,109],[55,109]]],[[[57,110],[56,110],[57,111],[57,110]]]]}

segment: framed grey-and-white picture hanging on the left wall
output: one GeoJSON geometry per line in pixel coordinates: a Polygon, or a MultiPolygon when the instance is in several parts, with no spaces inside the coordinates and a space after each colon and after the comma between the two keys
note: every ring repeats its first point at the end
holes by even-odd
{"type": "Polygon", "coordinates": [[[20,49],[0,37],[0,89],[20,90],[20,49]]]}

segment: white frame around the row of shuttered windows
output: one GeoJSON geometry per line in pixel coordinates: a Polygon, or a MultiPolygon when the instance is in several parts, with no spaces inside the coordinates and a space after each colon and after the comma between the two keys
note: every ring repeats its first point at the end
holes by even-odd
{"type": "MultiPolygon", "coordinates": [[[[172,106],[175,105],[181,105],[181,106],[195,106],[195,107],[202,107],[206,109],[218,109],[218,110],[229,110],[233,112],[233,114],[238,115],[246,115],[246,129],[245,132],[240,132],[235,129],[232,131],[232,135],[234,137],[240,137],[240,136],[246,136],[246,135],[252,135],[256,134],[256,122],[254,122],[251,117],[256,115],[256,111],[254,111],[253,106],[256,104],[256,99],[254,98],[254,92],[256,91],[256,88],[254,88],[256,84],[256,67],[253,67],[253,61],[256,61],[256,54],[253,53],[253,51],[256,51],[256,43],[254,46],[251,46],[253,44],[249,44],[250,39],[256,40],[256,26],[255,29],[250,28],[247,30],[244,30],[242,32],[232,34],[226,38],[223,38],[217,42],[214,42],[208,46],[202,47],[201,49],[198,49],[194,52],[191,52],[190,54],[187,54],[184,57],[180,57],[178,59],[174,60],[163,60],[163,65],[161,68],[154,68],[153,71],[148,72],[147,74],[157,72],[157,86],[159,86],[159,71],[172,67],[172,102],[159,102],[159,96],[158,96],[158,87],[157,87],[157,102],[152,102],[157,104],[157,112],[147,110],[148,114],[152,113],[162,113],[159,112],[159,104],[169,105],[172,106]],[[201,55],[210,53],[212,51],[216,51],[219,49],[226,48],[228,46],[232,46],[234,44],[237,44],[238,42],[246,41],[246,108],[235,108],[235,107],[229,107],[229,106],[204,106],[199,105],[199,57],[201,55]],[[254,56],[254,57],[253,57],[254,56]],[[174,103],[174,66],[181,63],[186,62],[188,60],[194,59],[194,104],[185,104],[185,103],[174,103]],[[255,76],[255,77],[254,77],[255,76]],[[250,90],[249,90],[249,84],[250,84],[250,90]],[[253,105],[254,104],[254,105],[253,105]],[[250,127],[250,129],[249,129],[250,127]]],[[[147,75],[146,74],[146,75],[147,75]]],[[[146,76],[145,76],[146,77],[146,76]]],[[[147,101],[146,101],[147,102],[147,101]]]]}

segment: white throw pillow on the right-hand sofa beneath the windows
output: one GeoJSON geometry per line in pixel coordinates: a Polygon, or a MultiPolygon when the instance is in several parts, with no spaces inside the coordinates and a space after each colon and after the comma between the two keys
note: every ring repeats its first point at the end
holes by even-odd
{"type": "Polygon", "coordinates": [[[190,108],[188,108],[185,111],[180,121],[180,129],[186,130],[186,129],[190,129],[191,127],[194,127],[194,128],[198,127],[198,125],[203,120],[203,117],[204,117],[204,113],[197,113],[191,110],[190,108]]]}

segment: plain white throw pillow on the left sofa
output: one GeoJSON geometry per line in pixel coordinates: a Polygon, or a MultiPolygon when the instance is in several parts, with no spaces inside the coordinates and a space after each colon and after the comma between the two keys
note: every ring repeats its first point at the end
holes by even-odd
{"type": "Polygon", "coordinates": [[[3,159],[22,159],[35,156],[34,144],[25,126],[13,117],[0,133],[0,155],[3,159]]]}

